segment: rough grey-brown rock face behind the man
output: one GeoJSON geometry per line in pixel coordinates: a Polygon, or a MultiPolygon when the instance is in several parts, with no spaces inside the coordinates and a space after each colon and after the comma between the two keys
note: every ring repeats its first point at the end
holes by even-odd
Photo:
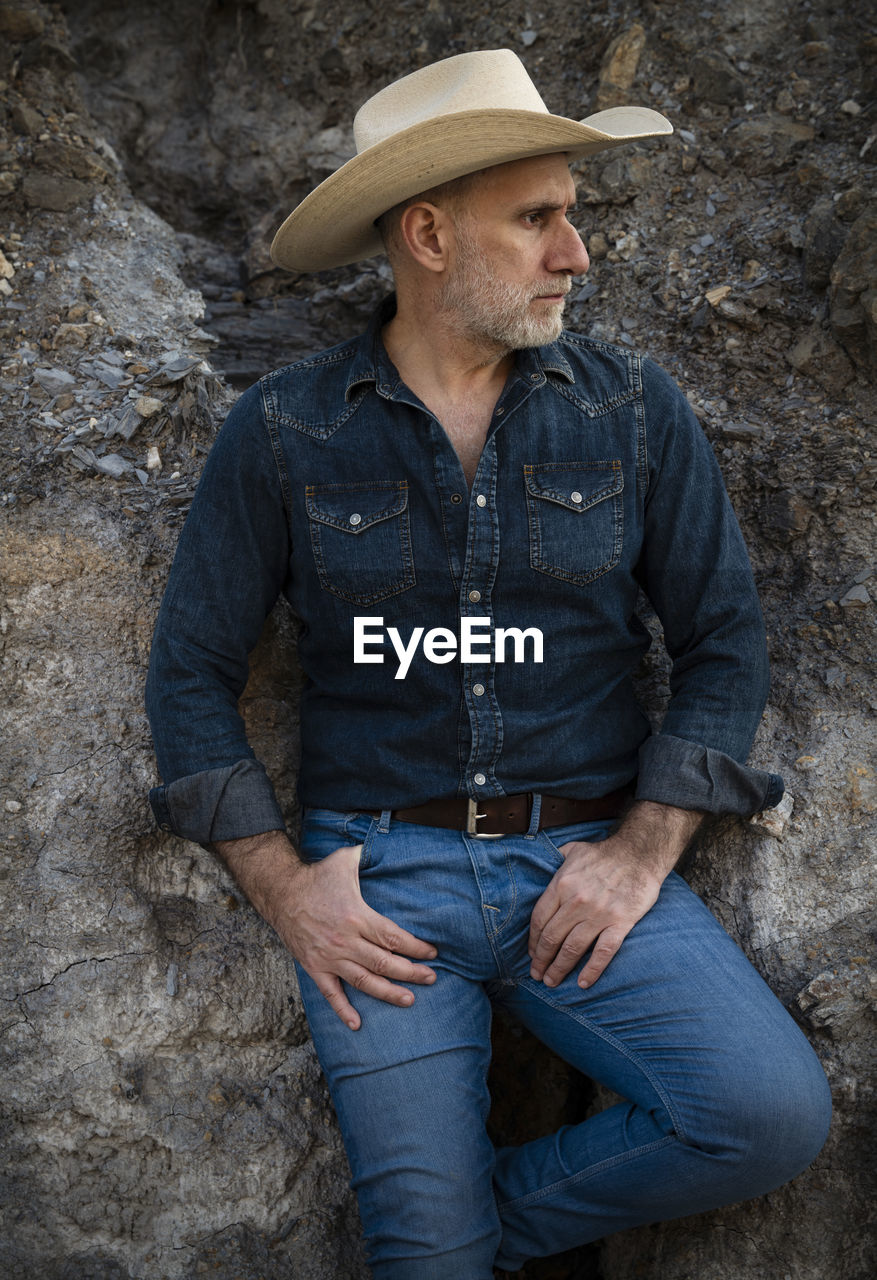
{"type": "MultiPolygon", "coordinates": [[[[554,110],[626,96],[677,125],[576,175],[594,265],[571,325],[675,374],[744,525],[773,658],[755,759],[793,805],[722,824],[689,874],[836,1103],[790,1187],[525,1274],[873,1274],[868,18],[858,0],[597,0],[586,19],[574,0],[0,0],[4,1275],[366,1275],[289,959],[210,858],[154,829],[142,682],[234,388],[356,332],[387,287],[379,260],[280,275],[271,229],[351,152],[352,105],[497,45],[554,110]]],[[[246,710],[294,818],[293,631],[270,620],[246,710]]],[[[663,682],[656,660],[656,707],[663,682]]],[[[604,1103],[513,1028],[497,1041],[498,1138],[604,1103]]]]}

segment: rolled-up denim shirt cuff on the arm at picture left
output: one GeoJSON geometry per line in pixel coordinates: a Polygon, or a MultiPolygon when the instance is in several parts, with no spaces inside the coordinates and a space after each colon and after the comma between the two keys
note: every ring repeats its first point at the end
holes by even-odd
{"type": "Polygon", "coordinates": [[[238,760],[154,787],[150,804],[161,831],[198,845],[287,829],[259,760],[238,760]]]}

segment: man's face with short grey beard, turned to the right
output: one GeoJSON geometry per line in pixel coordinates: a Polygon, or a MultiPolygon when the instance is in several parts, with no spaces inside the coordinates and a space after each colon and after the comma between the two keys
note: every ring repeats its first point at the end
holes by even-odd
{"type": "Polygon", "coordinates": [[[588,270],[567,221],[575,184],[562,155],[489,169],[455,214],[438,305],[461,337],[499,351],[553,342],[574,275],[588,270]]]}

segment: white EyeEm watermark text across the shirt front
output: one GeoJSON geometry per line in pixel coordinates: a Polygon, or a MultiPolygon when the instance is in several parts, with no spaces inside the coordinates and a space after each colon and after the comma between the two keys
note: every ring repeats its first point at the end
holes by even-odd
{"type": "MultiPolygon", "coordinates": [[[[542,662],[543,637],[539,627],[497,627],[490,635],[490,618],[461,618],[460,635],[448,627],[415,627],[408,643],[396,627],[387,627],[387,636],[399,659],[396,680],[405,680],[408,667],[422,643],[428,662],[453,662],[460,653],[461,662],[506,662],[507,644],[512,645],[512,662],[542,662]],[[485,634],[487,632],[487,634],[485,634]],[[527,640],[531,654],[527,658],[527,640]]],[[[353,618],[353,662],[383,662],[383,653],[366,653],[369,646],[383,645],[384,620],[378,617],[353,618]]]]}

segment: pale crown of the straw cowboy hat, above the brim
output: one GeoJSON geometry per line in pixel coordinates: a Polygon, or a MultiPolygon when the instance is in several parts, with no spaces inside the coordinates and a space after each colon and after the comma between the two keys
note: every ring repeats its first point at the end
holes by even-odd
{"type": "Polygon", "coordinates": [[[353,119],[357,152],[442,115],[548,108],[511,49],[457,54],[403,76],[364,102],[353,119]]]}

